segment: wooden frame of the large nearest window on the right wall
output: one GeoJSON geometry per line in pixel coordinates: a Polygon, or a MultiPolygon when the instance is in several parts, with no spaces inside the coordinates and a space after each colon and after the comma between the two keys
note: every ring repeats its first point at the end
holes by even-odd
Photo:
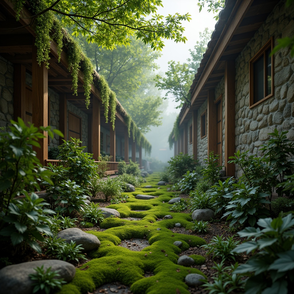
{"type": "Polygon", "coordinates": [[[257,61],[261,56],[264,56],[264,64],[263,64],[263,88],[264,88],[264,94],[266,93],[266,67],[265,67],[265,52],[271,48],[273,50],[274,48],[274,39],[271,37],[263,46],[258,50],[258,52],[249,60],[249,108],[252,108],[254,106],[257,106],[258,104],[262,103],[266,99],[273,97],[274,95],[274,55],[271,56],[271,93],[268,96],[265,96],[260,101],[254,103],[254,81],[253,81],[253,64],[255,61],[257,61]]]}

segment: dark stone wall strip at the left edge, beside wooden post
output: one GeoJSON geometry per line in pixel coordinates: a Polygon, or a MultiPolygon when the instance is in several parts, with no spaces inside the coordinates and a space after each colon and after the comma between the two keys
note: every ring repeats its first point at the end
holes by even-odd
{"type": "Polygon", "coordinates": [[[13,65],[0,56],[0,127],[13,119],[13,65]]]}

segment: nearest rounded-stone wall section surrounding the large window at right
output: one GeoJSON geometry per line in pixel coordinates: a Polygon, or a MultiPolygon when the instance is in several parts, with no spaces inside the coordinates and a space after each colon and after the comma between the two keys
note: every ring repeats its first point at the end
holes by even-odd
{"type": "MultiPolygon", "coordinates": [[[[286,9],[285,1],[280,1],[236,59],[236,150],[260,155],[258,147],[268,140],[268,133],[274,128],[289,131],[287,137],[294,141],[294,59],[288,48],[274,56],[274,96],[249,109],[249,60],[271,36],[275,45],[279,38],[292,37],[293,18],[293,5],[286,9]]],[[[236,167],[236,176],[240,174],[236,167]]]]}

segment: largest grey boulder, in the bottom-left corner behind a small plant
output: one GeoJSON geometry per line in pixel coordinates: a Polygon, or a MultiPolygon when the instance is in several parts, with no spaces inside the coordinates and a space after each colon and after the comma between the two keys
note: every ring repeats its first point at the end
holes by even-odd
{"type": "Polygon", "coordinates": [[[59,270],[59,278],[70,282],[76,273],[74,265],[63,260],[35,260],[14,265],[8,265],[0,270],[0,285],[2,294],[31,294],[33,281],[29,274],[36,273],[34,268],[44,265],[44,270],[51,267],[51,271],[59,270]]]}

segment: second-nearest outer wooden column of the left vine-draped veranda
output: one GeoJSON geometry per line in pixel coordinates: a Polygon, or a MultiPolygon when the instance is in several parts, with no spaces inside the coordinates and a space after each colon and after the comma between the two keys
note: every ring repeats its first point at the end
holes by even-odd
{"type": "Polygon", "coordinates": [[[98,160],[100,152],[100,101],[96,96],[93,96],[92,153],[95,160],[98,160]]]}

